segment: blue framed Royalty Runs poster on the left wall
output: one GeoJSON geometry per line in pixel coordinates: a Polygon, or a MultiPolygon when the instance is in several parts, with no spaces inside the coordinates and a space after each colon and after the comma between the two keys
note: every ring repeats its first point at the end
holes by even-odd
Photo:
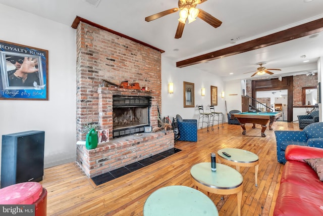
{"type": "Polygon", "coordinates": [[[48,51],[0,40],[0,99],[48,100],[48,51]]]}

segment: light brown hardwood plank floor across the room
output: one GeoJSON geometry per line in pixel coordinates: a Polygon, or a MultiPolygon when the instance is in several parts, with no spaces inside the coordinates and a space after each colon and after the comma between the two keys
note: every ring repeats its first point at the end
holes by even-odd
{"type": "MultiPolygon", "coordinates": [[[[221,148],[241,148],[259,156],[258,187],[255,187],[254,167],[241,167],[244,178],[241,215],[273,215],[283,165],[277,162],[274,130],[298,130],[298,123],[274,122],[273,131],[246,124],[242,135],[240,125],[224,124],[198,130],[198,141],[177,142],[181,149],[170,157],[131,172],[94,188],[76,162],[44,171],[40,183],[47,189],[47,215],[143,215],[147,197],[160,187],[185,185],[193,187],[190,168],[199,162],[209,162],[210,153],[221,148]]],[[[232,166],[234,167],[234,166],[232,166]]],[[[207,194],[205,191],[202,191],[207,194]]],[[[237,196],[210,194],[219,215],[238,215],[237,196]]]]}

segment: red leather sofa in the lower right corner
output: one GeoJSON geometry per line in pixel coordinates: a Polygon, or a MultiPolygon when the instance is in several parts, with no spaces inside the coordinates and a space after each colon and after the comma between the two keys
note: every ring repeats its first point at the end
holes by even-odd
{"type": "Polygon", "coordinates": [[[274,209],[278,215],[323,215],[323,182],[303,159],[323,158],[323,149],[289,145],[274,209]]]}

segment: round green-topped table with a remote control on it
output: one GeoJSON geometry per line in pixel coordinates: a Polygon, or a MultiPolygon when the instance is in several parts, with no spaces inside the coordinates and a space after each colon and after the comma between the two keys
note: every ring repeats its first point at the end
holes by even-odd
{"type": "Polygon", "coordinates": [[[255,186],[258,186],[258,164],[259,164],[259,157],[258,155],[249,152],[243,149],[236,149],[236,148],[225,148],[220,149],[218,152],[218,161],[225,161],[230,165],[235,165],[237,171],[240,172],[240,166],[251,167],[254,166],[254,178],[255,178],[255,186]],[[228,157],[223,154],[223,152],[227,152],[231,155],[228,157]]]}

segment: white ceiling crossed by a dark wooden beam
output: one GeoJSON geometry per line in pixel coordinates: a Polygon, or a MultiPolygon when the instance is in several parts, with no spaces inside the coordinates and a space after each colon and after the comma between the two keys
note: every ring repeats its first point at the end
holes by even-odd
{"type": "MultiPolygon", "coordinates": [[[[0,0],[0,4],[71,26],[79,16],[106,28],[164,50],[163,58],[185,60],[201,54],[234,46],[261,36],[323,18],[323,1],[313,0],[208,0],[197,8],[223,23],[213,28],[197,18],[186,24],[181,38],[175,39],[178,12],[146,22],[145,17],[177,8],[176,0],[0,0]],[[92,6],[88,2],[98,2],[92,6]],[[238,38],[238,39],[237,39],[238,38]],[[236,44],[230,44],[233,39],[236,44]],[[178,49],[179,51],[174,51],[178,49]]],[[[258,62],[266,68],[280,68],[271,77],[316,71],[316,61],[323,56],[323,33],[308,36],[192,65],[196,69],[222,76],[224,80],[249,78],[258,62]],[[300,56],[306,55],[306,58],[300,56]],[[303,63],[304,60],[309,60],[303,63]],[[249,72],[249,73],[247,73],[249,72]],[[230,73],[234,73],[230,75],[230,73]]],[[[259,78],[260,76],[255,76],[259,78]]],[[[268,76],[261,76],[267,78],[268,76]]]]}

